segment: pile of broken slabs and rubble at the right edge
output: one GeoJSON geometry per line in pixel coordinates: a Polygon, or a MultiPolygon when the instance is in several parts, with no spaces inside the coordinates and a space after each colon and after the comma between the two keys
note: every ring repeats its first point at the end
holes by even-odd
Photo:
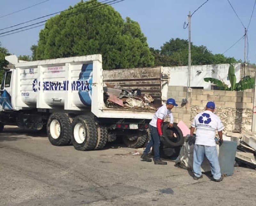
{"type": "Polygon", "coordinates": [[[243,134],[227,132],[226,137],[230,138],[230,141],[237,143],[236,163],[239,166],[247,166],[256,169],[256,160],[254,157],[254,155],[256,155],[256,134],[252,132],[243,134]]]}

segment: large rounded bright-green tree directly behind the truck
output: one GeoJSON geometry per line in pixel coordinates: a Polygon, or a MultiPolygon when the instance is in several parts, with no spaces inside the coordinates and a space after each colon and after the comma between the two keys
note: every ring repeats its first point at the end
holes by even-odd
{"type": "Polygon", "coordinates": [[[138,22],[128,17],[124,21],[113,7],[101,5],[81,1],[49,19],[37,48],[31,47],[32,59],[100,53],[104,69],[153,66],[154,56],[138,22]]]}

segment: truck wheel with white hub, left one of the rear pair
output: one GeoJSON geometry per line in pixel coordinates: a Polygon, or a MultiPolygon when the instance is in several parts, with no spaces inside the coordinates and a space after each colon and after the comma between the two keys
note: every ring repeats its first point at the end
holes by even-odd
{"type": "Polygon", "coordinates": [[[70,143],[70,119],[65,113],[53,113],[47,123],[47,135],[49,141],[55,146],[69,145],[70,143]]]}

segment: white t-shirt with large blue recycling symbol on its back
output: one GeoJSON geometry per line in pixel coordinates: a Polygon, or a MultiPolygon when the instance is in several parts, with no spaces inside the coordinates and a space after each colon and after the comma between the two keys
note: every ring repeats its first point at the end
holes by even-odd
{"type": "Polygon", "coordinates": [[[208,110],[197,114],[191,126],[196,127],[195,145],[205,146],[215,146],[215,131],[224,129],[220,118],[208,110]]]}

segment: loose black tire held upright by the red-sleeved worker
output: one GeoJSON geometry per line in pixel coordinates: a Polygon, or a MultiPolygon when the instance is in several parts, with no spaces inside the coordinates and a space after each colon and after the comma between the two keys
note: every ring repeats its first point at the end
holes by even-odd
{"type": "Polygon", "coordinates": [[[184,143],[184,137],[182,131],[177,126],[177,123],[173,123],[173,127],[168,127],[169,123],[165,123],[162,127],[163,135],[164,135],[164,142],[165,146],[170,147],[179,147],[184,143]],[[176,137],[175,137],[176,136],[176,137]]]}

